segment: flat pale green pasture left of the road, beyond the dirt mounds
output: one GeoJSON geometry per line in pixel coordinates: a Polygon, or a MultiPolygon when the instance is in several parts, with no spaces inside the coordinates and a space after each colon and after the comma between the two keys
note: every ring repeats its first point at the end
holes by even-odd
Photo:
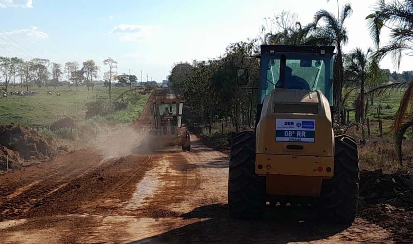
{"type": "MultiPolygon", "coordinates": [[[[127,91],[128,87],[112,87],[112,99],[127,91]]],[[[25,91],[25,87],[9,87],[10,91],[25,91]]],[[[30,87],[29,90],[38,92],[33,96],[8,96],[0,98],[0,124],[20,123],[25,125],[47,125],[65,116],[82,116],[85,104],[96,100],[109,102],[109,88],[87,87],[68,89],[59,87],[46,89],[30,87]],[[47,92],[52,92],[48,95],[47,92]],[[76,94],[74,95],[74,91],[76,94]],[[61,96],[57,96],[59,92],[61,96]]]]}

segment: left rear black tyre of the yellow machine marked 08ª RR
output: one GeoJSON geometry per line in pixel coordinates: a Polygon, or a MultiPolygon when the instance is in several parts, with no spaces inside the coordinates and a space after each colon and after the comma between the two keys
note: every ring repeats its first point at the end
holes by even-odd
{"type": "Polygon", "coordinates": [[[265,210],[265,177],[255,174],[255,134],[234,136],[229,160],[229,214],[236,219],[258,219],[265,210]]]}

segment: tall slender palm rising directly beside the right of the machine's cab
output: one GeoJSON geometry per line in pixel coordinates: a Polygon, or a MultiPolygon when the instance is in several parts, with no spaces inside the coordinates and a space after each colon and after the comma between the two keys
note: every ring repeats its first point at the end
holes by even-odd
{"type": "MultiPolygon", "coordinates": [[[[334,44],[337,47],[337,55],[335,59],[336,65],[334,69],[334,107],[336,108],[336,111],[338,111],[337,116],[341,115],[342,86],[344,81],[342,45],[345,45],[348,42],[348,33],[346,27],[344,26],[344,23],[352,12],[353,11],[350,4],[344,5],[341,13],[337,17],[327,10],[322,9],[315,13],[314,20],[310,24],[312,30],[317,31],[320,28],[317,28],[317,25],[321,20],[324,20],[325,25],[322,28],[329,33],[330,37],[332,38],[332,40],[334,40],[334,44]]],[[[340,122],[339,118],[340,117],[336,118],[338,119],[338,122],[340,122]]]]}

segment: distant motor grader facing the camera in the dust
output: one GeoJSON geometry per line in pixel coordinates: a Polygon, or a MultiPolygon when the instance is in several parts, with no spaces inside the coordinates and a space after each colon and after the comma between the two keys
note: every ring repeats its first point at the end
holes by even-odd
{"type": "Polygon", "coordinates": [[[158,88],[155,91],[153,125],[147,138],[150,149],[179,145],[184,151],[191,150],[190,133],[182,128],[183,104],[184,100],[170,88],[158,88]]]}

